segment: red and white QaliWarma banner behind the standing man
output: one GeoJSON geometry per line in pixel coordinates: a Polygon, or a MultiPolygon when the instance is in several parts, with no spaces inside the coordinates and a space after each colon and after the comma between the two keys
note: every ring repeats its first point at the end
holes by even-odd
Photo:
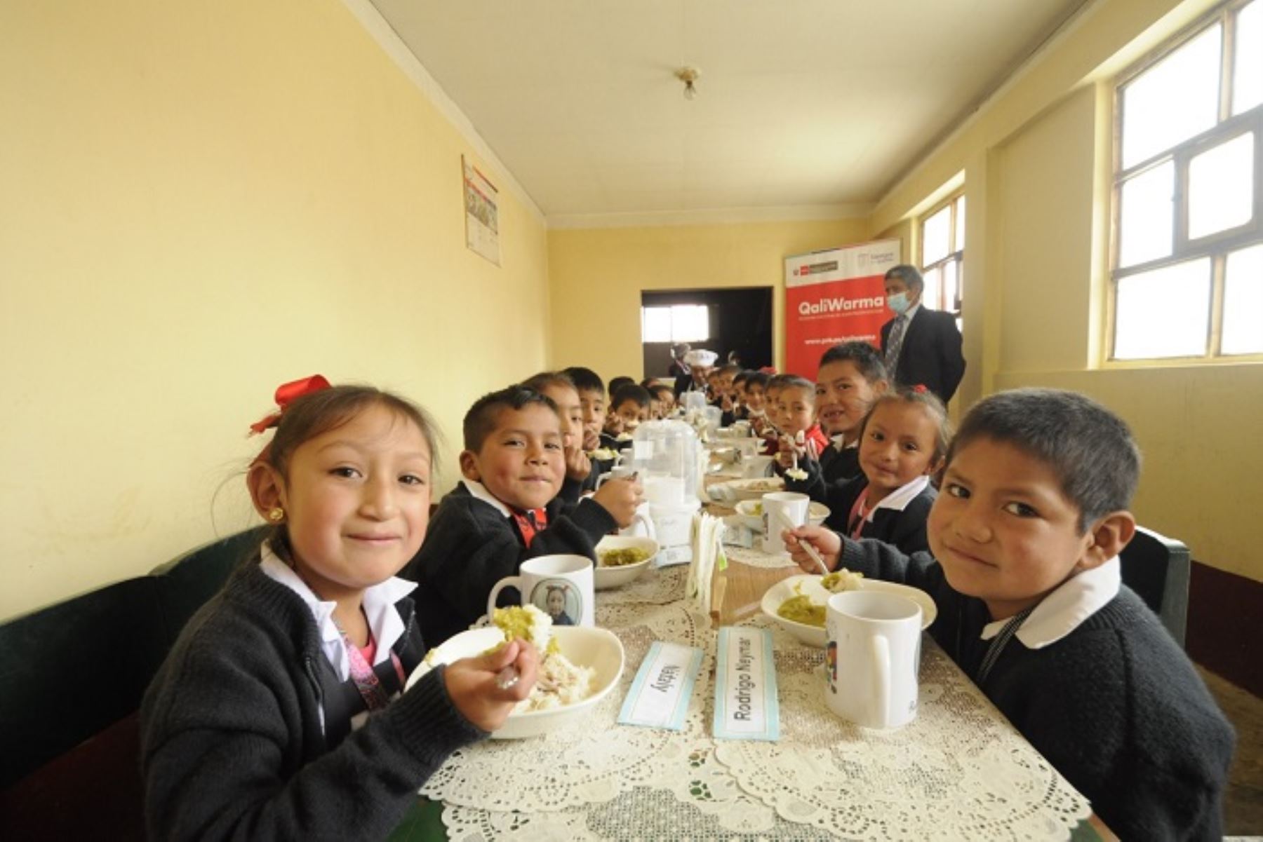
{"type": "Polygon", "coordinates": [[[786,371],[816,379],[820,355],[850,340],[882,343],[883,279],[899,241],[878,240],[786,258],[786,371]]]}

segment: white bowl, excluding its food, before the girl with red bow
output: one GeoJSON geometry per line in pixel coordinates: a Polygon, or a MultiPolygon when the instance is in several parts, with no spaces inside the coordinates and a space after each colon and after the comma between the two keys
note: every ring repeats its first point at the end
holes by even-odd
{"type": "MultiPolygon", "coordinates": [[[[605,629],[587,626],[553,626],[553,637],[576,667],[591,667],[592,694],[582,702],[554,707],[547,711],[527,711],[510,713],[499,731],[491,733],[494,740],[520,740],[534,737],[549,731],[568,727],[589,713],[610,694],[623,677],[623,641],[605,629]]],[[[504,632],[495,627],[470,629],[447,639],[426,656],[426,660],[408,677],[412,687],[422,675],[438,664],[450,664],[461,658],[475,658],[504,640],[504,632]]]]}

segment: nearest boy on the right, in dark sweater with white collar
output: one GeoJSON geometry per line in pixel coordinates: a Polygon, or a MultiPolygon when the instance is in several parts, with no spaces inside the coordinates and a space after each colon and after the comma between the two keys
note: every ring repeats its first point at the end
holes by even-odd
{"type": "Polygon", "coordinates": [[[930,511],[933,555],[823,528],[832,568],[935,597],[930,634],[1124,839],[1218,839],[1233,728],[1118,553],[1139,477],[1127,425],[1082,395],[1019,389],[966,415],[930,511]]]}

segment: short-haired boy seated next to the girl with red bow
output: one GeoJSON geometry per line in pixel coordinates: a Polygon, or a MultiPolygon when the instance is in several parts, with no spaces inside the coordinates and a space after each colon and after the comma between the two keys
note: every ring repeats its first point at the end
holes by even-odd
{"type": "MultiPolygon", "coordinates": [[[[443,497],[402,573],[422,584],[413,598],[431,648],[482,616],[491,588],[524,560],[556,553],[595,559],[596,543],[630,525],[642,500],[635,480],[605,482],[577,505],[558,496],[561,419],[557,405],[534,389],[484,395],[465,414],[464,433],[464,478],[443,497]]],[[[515,595],[500,603],[510,605],[515,595]]]]}

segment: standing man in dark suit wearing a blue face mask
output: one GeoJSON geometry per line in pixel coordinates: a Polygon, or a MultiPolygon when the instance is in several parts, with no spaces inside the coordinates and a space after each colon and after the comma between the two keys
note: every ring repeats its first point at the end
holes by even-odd
{"type": "Polygon", "coordinates": [[[923,384],[946,404],[965,375],[965,356],[956,318],[921,305],[925,288],[913,266],[885,273],[885,300],[895,316],[882,326],[882,356],[898,385],[923,384]]]}

